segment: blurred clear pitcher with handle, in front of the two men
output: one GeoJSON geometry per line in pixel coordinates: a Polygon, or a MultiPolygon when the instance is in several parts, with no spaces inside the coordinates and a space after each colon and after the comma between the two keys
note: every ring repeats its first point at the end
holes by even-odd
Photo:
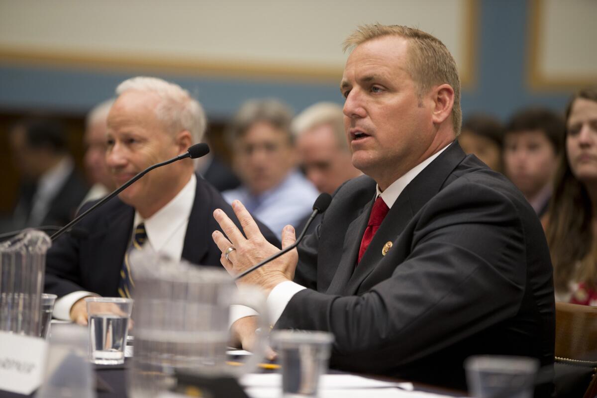
{"type": "Polygon", "coordinates": [[[175,373],[202,377],[252,372],[263,359],[265,341],[244,366],[226,363],[230,306],[242,304],[261,314],[267,328],[265,298],[256,288],[237,288],[217,267],[198,267],[161,258],[149,250],[131,255],[135,306],[134,355],[128,374],[131,398],[154,397],[176,387],[175,373]]]}

